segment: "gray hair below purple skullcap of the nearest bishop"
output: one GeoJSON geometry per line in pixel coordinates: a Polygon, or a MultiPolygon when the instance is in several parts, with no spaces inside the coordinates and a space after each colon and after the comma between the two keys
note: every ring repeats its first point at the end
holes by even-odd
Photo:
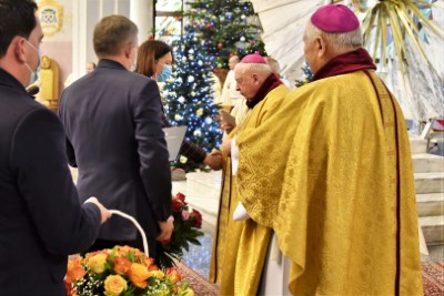
{"type": "Polygon", "coordinates": [[[305,27],[305,37],[310,41],[314,40],[316,37],[322,37],[334,51],[339,52],[355,50],[363,45],[361,27],[351,32],[329,33],[317,29],[312,21],[309,20],[305,27]]]}

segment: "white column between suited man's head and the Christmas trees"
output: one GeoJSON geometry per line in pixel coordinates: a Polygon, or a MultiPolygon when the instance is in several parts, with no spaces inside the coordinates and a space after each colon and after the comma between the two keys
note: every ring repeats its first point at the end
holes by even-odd
{"type": "Polygon", "coordinates": [[[153,28],[153,2],[151,0],[131,0],[130,19],[139,28],[139,44],[148,40],[153,28]]]}

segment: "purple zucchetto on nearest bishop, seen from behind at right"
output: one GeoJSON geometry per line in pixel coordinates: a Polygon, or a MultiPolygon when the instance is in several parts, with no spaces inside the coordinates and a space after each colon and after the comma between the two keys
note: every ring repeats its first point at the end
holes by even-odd
{"type": "Polygon", "coordinates": [[[329,33],[346,33],[360,27],[354,12],[342,4],[319,8],[310,19],[314,27],[329,33]]]}

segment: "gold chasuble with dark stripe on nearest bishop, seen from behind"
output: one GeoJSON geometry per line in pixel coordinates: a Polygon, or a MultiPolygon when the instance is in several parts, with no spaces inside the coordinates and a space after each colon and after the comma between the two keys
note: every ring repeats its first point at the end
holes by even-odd
{"type": "Polygon", "coordinates": [[[236,143],[240,201],[275,232],[293,295],[423,295],[405,120],[373,71],[290,92],[236,143]]]}

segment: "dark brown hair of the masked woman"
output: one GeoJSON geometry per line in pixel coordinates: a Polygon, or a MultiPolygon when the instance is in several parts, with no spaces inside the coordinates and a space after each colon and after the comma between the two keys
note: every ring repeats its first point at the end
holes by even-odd
{"type": "Polygon", "coordinates": [[[138,61],[135,72],[145,76],[153,76],[155,72],[155,63],[160,58],[171,52],[169,44],[160,40],[148,40],[139,47],[138,61]]]}

